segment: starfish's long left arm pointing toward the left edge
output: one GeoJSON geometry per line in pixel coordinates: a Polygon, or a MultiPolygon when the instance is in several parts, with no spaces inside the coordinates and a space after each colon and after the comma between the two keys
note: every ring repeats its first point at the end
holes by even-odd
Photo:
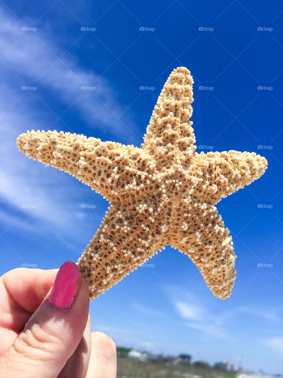
{"type": "Polygon", "coordinates": [[[23,133],[17,145],[30,158],[65,170],[111,202],[126,192],[128,175],[136,170],[140,155],[133,146],[56,131],[23,133]]]}

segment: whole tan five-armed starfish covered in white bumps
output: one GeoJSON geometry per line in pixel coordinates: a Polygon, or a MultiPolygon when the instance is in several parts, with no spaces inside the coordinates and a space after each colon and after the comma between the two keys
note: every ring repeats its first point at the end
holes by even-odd
{"type": "Polygon", "coordinates": [[[110,206],[77,265],[90,300],[171,245],[200,270],[212,293],[229,297],[235,280],[232,237],[215,204],[267,168],[254,152],[197,153],[190,71],[178,67],[154,107],[141,148],[75,133],[23,133],[27,156],[76,177],[110,206]]]}

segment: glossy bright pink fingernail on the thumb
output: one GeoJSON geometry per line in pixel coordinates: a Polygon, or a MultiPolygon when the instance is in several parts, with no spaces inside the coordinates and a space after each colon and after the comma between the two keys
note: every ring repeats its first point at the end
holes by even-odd
{"type": "Polygon", "coordinates": [[[60,267],[49,297],[49,303],[59,308],[70,308],[77,293],[80,270],[71,261],[60,267]]]}

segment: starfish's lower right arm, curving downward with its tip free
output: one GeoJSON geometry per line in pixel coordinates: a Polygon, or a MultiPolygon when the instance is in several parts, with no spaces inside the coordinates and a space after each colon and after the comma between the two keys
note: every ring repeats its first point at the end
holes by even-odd
{"type": "MultiPolygon", "coordinates": [[[[202,211],[193,214],[188,230],[175,230],[175,238],[171,245],[181,253],[189,256],[198,267],[208,288],[214,296],[225,299],[231,295],[236,271],[232,237],[228,228],[224,227],[221,215],[215,206],[207,206],[207,214],[202,211]],[[209,209],[212,209],[209,212],[209,209]],[[201,219],[200,224],[198,220],[201,219]]],[[[184,218],[186,225],[188,217],[184,218]]]]}

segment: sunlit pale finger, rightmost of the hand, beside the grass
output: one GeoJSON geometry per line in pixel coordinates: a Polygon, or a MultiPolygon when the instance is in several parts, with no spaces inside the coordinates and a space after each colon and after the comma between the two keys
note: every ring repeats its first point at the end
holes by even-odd
{"type": "Polygon", "coordinates": [[[85,378],[116,378],[117,353],[114,341],[102,332],[91,333],[91,357],[85,378]]]}

